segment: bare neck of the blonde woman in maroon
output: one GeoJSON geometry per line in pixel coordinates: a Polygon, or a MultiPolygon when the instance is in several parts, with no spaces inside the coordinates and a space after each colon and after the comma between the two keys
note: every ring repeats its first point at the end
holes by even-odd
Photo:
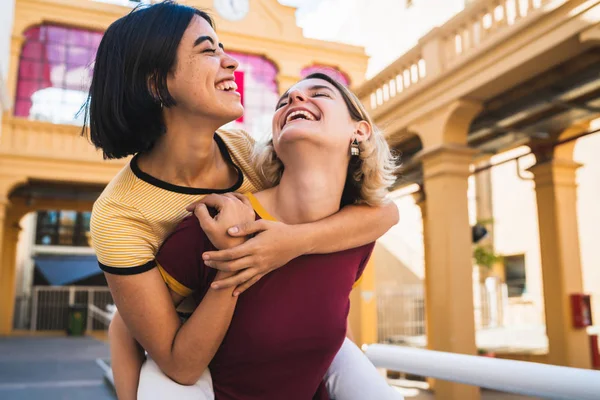
{"type": "Polygon", "coordinates": [[[257,194],[259,201],[277,220],[287,224],[318,221],[340,209],[347,167],[336,160],[286,163],[279,185],[257,194]]]}

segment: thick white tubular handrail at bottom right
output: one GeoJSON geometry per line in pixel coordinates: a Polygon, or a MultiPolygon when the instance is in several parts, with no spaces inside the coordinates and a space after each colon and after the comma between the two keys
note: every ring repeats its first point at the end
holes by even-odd
{"type": "Polygon", "coordinates": [[[600,371],[384,344],[364,347],[367,357],[378,368],[526,396],[565,400],[600,398],[600,371]]]}

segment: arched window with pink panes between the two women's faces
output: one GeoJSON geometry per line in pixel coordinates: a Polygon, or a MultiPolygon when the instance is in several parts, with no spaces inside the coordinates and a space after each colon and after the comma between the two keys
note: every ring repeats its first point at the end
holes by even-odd
{"type": "Polygon", "coordinates": [[[240,63],[236,81],[245,110],[244,116],[230,125],[244,128],[256,139],[264,140],[271,135],[271,121],[279,99],[277,67],[262,56],[229,54],[240,63]]]}

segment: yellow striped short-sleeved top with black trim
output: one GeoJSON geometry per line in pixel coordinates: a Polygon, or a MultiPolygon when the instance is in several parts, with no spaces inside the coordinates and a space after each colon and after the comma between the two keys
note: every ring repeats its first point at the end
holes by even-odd
{"type": "Polygon", "coordinates": [[[145,174],[134,157],[94,203],[92,246],[100,268],[130,275],[156,265],[159,247],[189,213],[185,207],[209,193],[256,192],[264,183],[250,163],[254,140],[242,130],[218,130],[215,141],[238,171],[238,180],[225,190],[175,186],[145,174]]]}

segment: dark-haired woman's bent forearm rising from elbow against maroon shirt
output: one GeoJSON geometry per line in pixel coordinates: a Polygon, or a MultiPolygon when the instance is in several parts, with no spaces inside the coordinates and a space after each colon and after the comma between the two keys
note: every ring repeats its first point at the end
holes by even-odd
{"type": "MultiPolygon", "coordinates": [[[[233,273],[218,272],[215,279],[233,273]]],[[[192,316],[177,331],[171,346],[168,368],[159,367],[183,385],[197,382],[219,349],[237,303],[233,288],[209,289],[192,316]]],[[[158,361],[157,361],[158,362],[158,361]]]]}

